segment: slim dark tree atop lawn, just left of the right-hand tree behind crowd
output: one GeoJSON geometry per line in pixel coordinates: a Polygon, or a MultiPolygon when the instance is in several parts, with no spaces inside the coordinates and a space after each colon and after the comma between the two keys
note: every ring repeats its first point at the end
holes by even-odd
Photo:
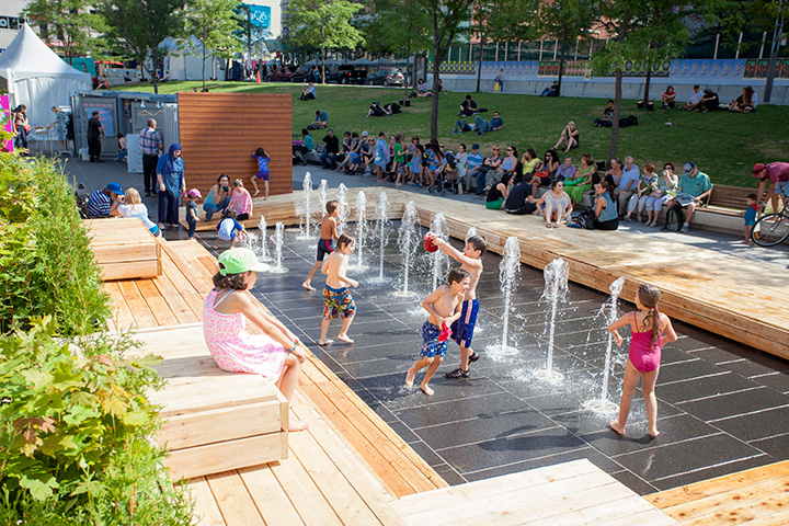
{"type": "Polygon", "coordinates": [[[579,38],[588,35],[594,22],[594,4],[584,0],[539,0],[538,10],[541,36],[559,43],[559,79],[557,83],[559,85],[558,93],[561,93],[567,52],[575,45],[579,38]]]}

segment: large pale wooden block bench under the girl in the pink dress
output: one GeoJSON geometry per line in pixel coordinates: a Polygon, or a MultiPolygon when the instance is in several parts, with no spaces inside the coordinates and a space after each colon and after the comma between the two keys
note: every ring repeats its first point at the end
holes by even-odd
{"type": "Polygon", "coordinates": [[[288,402],[258,375],[219,369],[199,323],[151,329],[130,356],[156,354],[168,385],[149,392],[164,420],[158,436],[172,480],[191,479],[287,458],[288,402]]]}

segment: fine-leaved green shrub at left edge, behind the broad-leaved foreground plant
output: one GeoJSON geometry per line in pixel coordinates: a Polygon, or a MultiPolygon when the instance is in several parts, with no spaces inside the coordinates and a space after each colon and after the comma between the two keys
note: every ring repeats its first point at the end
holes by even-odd
{"type": "Polygon", "coordinates": [[[0,332],[53,315],[65,335],[110,317],[101,270],[60,167],[0,153],[0,332]]]}

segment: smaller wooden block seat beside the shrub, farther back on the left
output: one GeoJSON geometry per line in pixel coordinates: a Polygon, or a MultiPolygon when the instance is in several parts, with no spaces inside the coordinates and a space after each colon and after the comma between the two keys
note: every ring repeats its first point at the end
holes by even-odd
{"type": "Polygon", "coordinates": [[[153,277],[162,273],[159,243],[139,219],[113,217],[82,222],[92,236],[91,249],[104,281],[153,277]]]}

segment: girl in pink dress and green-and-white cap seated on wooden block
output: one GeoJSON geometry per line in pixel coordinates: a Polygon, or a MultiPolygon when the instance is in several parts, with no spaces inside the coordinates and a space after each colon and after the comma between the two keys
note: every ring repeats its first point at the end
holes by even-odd
{"type": "MultiPolygon", "coordinates": [[[[230,249],[219,255],[215,288],[203,306],[203,333],[220,369],[261,375],[275,382],[289,401],[298,385],[301,364],[307,359],[307,348],[265,307],[255,305],[249,289],[258,279],[258,272],[266,268],[249,249],[230,249]],[[264,334],[248,333],[247,319],[264,334]]],[[[306,423],[290,420],[289,431],[306,428],[306,423]]]]}

